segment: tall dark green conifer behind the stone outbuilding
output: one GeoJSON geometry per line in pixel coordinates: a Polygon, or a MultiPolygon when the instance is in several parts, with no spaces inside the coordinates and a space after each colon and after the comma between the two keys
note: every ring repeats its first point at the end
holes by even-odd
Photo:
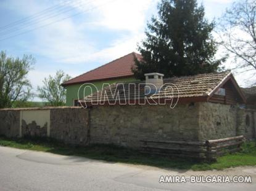
{"type": "Polygon", "coordinates": [[[216,72],[225,58],[217,60],[213,40],[214,23],[204,18],[204,7],[196,0],[162,0],[158,16],[147,24],[146,39],[138,46],[143,60],[135,60],[134,76],[147,72],[165,77],[216,72]]]}

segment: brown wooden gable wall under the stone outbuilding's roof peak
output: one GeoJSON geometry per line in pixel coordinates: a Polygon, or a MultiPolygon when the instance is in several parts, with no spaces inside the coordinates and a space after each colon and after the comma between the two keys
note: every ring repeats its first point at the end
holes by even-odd
{"type": "Polygon", "coordinates": [[[237,93],[236,88],[234,87],[231,80],[228,80],[221,88],[225,88],[226,95],[213,95],[212,98],[209,99],[211,103],[223,103],[223,104],[236,104],[241,103],[241,98],[237,93]]]}

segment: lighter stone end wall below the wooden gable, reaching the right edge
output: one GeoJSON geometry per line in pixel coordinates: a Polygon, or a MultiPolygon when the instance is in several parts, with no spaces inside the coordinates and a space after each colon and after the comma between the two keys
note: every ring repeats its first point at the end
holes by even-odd
{"type": "Polygon", "coordinates": [[[256,112],[238,106],[218,103],[200,103],[199,139],[220,139],[244,135],[255,138],[256,112]],[[247,118],[247,122],[246,122],[247,118]]]}

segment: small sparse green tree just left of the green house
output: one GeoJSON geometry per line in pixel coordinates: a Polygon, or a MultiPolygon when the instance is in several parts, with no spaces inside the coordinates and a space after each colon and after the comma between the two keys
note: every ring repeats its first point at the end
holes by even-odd
{"type": "Polygon", "coordinates": [[[66,90],[61,86],[62,83],[70,79],[70,76],[63,71],[57,71],[56,75],[44,78],[43,87],[38,87],[39,98],[49,102],[51,106],[64,106],[66,99],[66,90]]]}

